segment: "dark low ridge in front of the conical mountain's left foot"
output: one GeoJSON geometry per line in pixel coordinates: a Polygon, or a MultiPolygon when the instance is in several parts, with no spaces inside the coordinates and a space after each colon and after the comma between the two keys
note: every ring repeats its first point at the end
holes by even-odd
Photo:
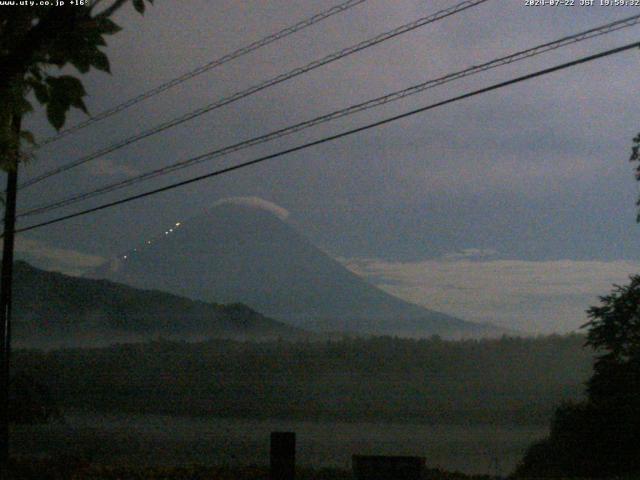
{"type": "Polygon", "coordinates": [[[107,280],[14,266],[13,334],[18,346],[102,346],[209,338],[306,337],[243,304],[204,303],[107,280]]]}

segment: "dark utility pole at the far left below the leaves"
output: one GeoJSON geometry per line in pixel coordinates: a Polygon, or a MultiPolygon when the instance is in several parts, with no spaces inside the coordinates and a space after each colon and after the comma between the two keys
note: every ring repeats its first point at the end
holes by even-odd
{"type": "MultiPolygon", "coordinates": [[[[12,118],[12,130],[20,141],[20,117],[12,118]]],[[[18,191],[19,143],[16,144],[15,165],[7,169],[7,192],[4,211],[2,244],[2,276],[0,285],[0,478],[7,475],[9,461],[9,361],[11,356],[11,286],[13,277],[13,244],[16,225],[16,196],[18,191]]]]}

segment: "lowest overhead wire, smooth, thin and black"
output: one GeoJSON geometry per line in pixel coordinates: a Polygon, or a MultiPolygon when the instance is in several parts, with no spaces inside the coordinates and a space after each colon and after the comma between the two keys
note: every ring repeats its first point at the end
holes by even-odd
{"type": "Polygon", "coordinates": [[[500,88],[504,88],[504,87],[507,87],[509,85],[513,85],[513,84],[516,84],[516,83],[524,82],[526,80],[531,80],[533,78],[541,77],[543,75],[548,75],[548,74],[553,73],[553,72],[564,70],[564,69],[567,69],[567,68],[570,68],[570,67],[574,67],[576,65],[583,64],[583,63],[588,63],[588,62],[597,60],[599,58],[608,57],[610,55],[615,55],[617,53],[621,53],[621,52],[624,52],[626,50],[631,50],[632,48],[638,48],[638,47],[640,47],[640,42],[635,42],[635,43],[624,45],[622,47],[617,47],[617,48],[613,48],[613,49],[610,49],[610,50],[606,50],[604,52],[600,52],[600,53],[597,53],[597,54],[594,54],[594,55],[581,57],[581,58],[579,58],[577,60],[573,60],[571,62],[563,63],[563,64],[560,64],[560,65],[556,65],[555,67],[545,68],[543,70],[538,70],[538,71],[536,71],[534,73],[530,73],[530,74],[527,74],[527,75],[516,77],[516,78],[513,78],[511,80],[504,81],[504,82],[496,83],[496,84],[493,84],[493,85],[488,86],[488,87],[484,87],[484,88],[481,88],[481,89],[478,89],[478,90],[474,90],[472,92],[468,92],[468,93],[465,93],[465,94],[462,94],[462,95],[458,95],[456,97],[449,98],[447,100],[443,100],[443,101],[440,101],[440,102],[437,102],[437,103],[432,103],[432,104],[427,105],[425,107],[417,108],[417,109],[411,110],[409,112],[401,113],[399,115],[394,115],[392,117],[387,117],[387,118],[385,118],[383,120],[379,120],[377,122],[369,123],[369,124],[361,126],[361,127],[357,127],[357,128],[353,128],[353,129],[350,129],[350,130],[346,130],[344,132],[341,132],[341,133],[338,133],[338,134],[335,134],[335,135],[331,135],[329,137],[324,137],[324,138],[321,138],[320,140],[315,140],[313,142],[308,142],[308,143],[305,143],[305,144],[302,144],[302,145],[298,145],[296,147],[288,148],[286,150],[281,150],[280,152],[273,153],[271,155],[265,155],[263,157],[259,157],[259,158],[256,158],[254,160],[249,160],[249,161],[246,161],[246,162],[243,162],[243,163],[239,163],[237,165],[233,165],[233,166],[230,166],[230,167],[222,168],[220,170],[215,170],[213,172],[210,172],[210,173],[207,173],[207,174],[204,174],[204,175],[199,175],[197,177],[193,177],[193,178],[190,178],[188,180],[183,180],[183,181],[180,181],[180,182],[172,183],[172,184],[164,186],[164,187],[156,188],[156,189],[153,189],[153,190],[148,190],[146,192],[139,193],[139,194],[136,194],[136,195],[131,195],[129,197],[125,197],[125,198],[120,199],[120,200],[116,200],[116,201],[109,202],[109,203],[104,203],[104,204],[99,205],[97,207],[88,208],[86,210],[81,210],[81,211],[76,212],[76,213],[71,213],[71,214],[64,215],[64,216],[61,216],[61,217],[58,217],[58,218],[55,218],[55,219],[52,219],[52,220],[47,220],[45,222],[40,222],[40,223],[37,223],[35,225],[30,225],[28,227],[20,228],[20,229],[17,229],[15,231],[15,233],[27,232],[27,231],[30,231],[30,230],[34,230],[36,228],[44,227],[44,226],[47,226],[47,225],[52,225],[52,224],[59,223],[59,222],[65,221],[65,220],[69,220],[69,219],[72,219],[72,218],[76,218],[76,217],[80,217],[80,216],[83,216],[83,215],[87,215],[89,213],[93,213],[93,212],[97,212],[97,211],[104,210],[104,209],[107,209],[107,208],[115,207],[117,205],[122,205],[124,203],[128,203],[128,202],[131,202],[133,200],[138,200],[138,199],[141,199],[141,198],[149,197],[149,196],[152,196],[152,195],[156,195],[158,193],[166,192],[168,190],[173,190],[174,188],[178,188],[178,187],[182,187],[182,186],[185,186],[185,185],[189,185],[191,183],[199,182],[199,181],[202,181],[202,180],[205,180],[205,179],[208,179],[208,178],[224,175],[226,173],[229,173],[229,172],[232,172],[232,171],[235,171],[235,170],[240,170],[242,168],[246,168],[246,167],[250,167],[250,166],[253,166],[253,165],[257,165],[257,164],[262,163],[262,162],[266,162],[267,160],[272,160],[274,158],[282,157],[282,156],[288,155],[290,153],[299,152],[301,150],[305,150],[307,148],[311,148],[311,147],[314,147],[314,146],[317,146],[317,145],[321,145],[323,143],[331,142],[331,141],[334,141],[334,140],[337,140],[337,139],[340,139],[340,138],[343,138],[343,137],[354,135],[356,133],[363,132],[365,130],[376,128],[376,127],[385,125],[387,123],[395,122],[395,121],[400,120],[402,118],[410,117],[410,116],[416,115],[418,113],[426,112],[428,110],[433,110],[435,108],[442,107],[444,105],[448,105],[448,104],[451,104],[451,103],[454,103],[454,102],[458,102],[458,101],[464,100],[466,98],[471,98],[471,97],[474,97],[476,95],[481,95],[483,93],[491,92],[493,90],[498,90],[500,88]]]}

